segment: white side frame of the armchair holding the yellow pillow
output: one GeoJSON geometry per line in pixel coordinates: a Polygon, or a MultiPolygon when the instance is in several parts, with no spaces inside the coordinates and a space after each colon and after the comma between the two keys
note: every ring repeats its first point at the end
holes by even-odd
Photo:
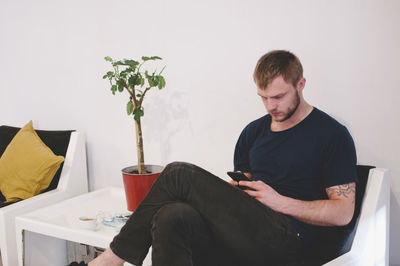
{"type": "MultiPolygon", "coordinates": [[[[0,208],[0,251],[3,266],[18,265],[15,217],[88,191],[85,136],[71,132],[57,187],[0,208]]],[[[0,263],[1,265],[1,263],[0,263]]]]}

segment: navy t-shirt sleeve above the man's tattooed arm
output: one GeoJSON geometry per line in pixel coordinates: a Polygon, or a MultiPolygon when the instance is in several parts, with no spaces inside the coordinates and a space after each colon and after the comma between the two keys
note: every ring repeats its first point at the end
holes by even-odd
{"type": "Polygon", "coordinates": [[[357,155],[353,138],[342,126],[328,144],[322,175],[325,187],[357,182],[357,155]]]}

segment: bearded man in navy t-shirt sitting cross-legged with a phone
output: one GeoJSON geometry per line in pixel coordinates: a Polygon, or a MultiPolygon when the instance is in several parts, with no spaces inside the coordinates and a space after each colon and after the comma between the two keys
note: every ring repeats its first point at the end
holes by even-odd
{"type": "Polygon", "coordinates": [[[298,58],[272,51],[254,80],[268,115],[241,133],[233,186],[187,163],[169,164],[107,249],[89,265],[285,265],[355,205],[356,154],[347,129],[308,104],[298,58]],[[237,185],[245,186],[244,191],[237,185]]]}

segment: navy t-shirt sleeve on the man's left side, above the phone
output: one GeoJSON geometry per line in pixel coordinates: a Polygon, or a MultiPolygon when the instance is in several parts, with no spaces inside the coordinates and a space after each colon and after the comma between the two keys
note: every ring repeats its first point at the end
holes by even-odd
{"type": "Polygon", "coordinates": [[[233,156],[234,171],[250,172],[249,163],[250,145],[248,141],[247,127],[243,129],[235,146],[233,156]]]}

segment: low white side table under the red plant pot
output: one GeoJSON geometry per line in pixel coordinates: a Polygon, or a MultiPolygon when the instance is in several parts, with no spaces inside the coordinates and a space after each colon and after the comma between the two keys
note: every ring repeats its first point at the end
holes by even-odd
{"type": "MultiPolygon", "coordinates": [[[[80,216],[96,217],[99,212],[126,213],[124,190],[108,187],[18,216],[16,218],[18,265],[37,265],[44,263],[44,259],[46,265],[65,266],[66,240],[108,248],[117,234],[115,228],[101,224],[96,231],[91,231],[82,229],[78,222],[80,216]],[[37,234],[36,242],[41,243],[33,245],[30,243],[32,240],[28,238],[34,239],[35,237],[30,235],[35,234],[37,234]],[[32,257],[39,260],[42,258],[42,261],[33,262],[32,257]]],[[[143,265],[150,265],[150,256],[143,265]]]]}

